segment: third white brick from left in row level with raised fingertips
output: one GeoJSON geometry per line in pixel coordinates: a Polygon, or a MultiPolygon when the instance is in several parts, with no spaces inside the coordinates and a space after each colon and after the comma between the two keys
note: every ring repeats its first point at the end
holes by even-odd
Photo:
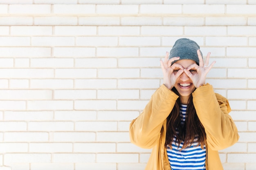
{"type": "Polygon", "coordinates": [[[139,49],[137,47],[98,47],[98,57],[137,57],[139,49]]]}

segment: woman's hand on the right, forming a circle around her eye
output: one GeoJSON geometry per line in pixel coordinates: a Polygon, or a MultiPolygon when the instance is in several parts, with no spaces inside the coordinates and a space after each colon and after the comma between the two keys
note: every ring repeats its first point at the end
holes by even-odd
{"type": "Polygon", "coordinates": [[[213,65],[216,63],[216,61],[214,61],[211,63],[211,65],[209,65],[209,58],[211,54],[210,52],[207,54],[205,63],[199,50],[197,51],[197,53],[199,58],[199,66],[197,64],[191,64],[187,68],[184,68],[184,72],[192,79],[195,88],[198,88],[199,86],[205,84],[207,73],[209,73],[213,65]]]}

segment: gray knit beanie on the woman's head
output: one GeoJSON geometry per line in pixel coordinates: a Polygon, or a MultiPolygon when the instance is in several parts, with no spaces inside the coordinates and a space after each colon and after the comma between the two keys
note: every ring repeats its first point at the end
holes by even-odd
{"type": "MultiPolygon", "coordinates": [[[[170,51],[170,55],[168,59],[172,57],[180,57],[180,60],[183,60],[183,59],[194,60],[196,64],[199,65],[199,59],[198,59],[198,53],[197,53],[198,49],[200,49],[200,46],[193,40],[189,40],[187,38],[181,38],[177,40],[173,45],[173,48],[170,51]]],[[[202,55],[201,50],[200,50],[200,53],[202,55]]],[[[174,62],[172,62],[172,64],[174,62]]]]}

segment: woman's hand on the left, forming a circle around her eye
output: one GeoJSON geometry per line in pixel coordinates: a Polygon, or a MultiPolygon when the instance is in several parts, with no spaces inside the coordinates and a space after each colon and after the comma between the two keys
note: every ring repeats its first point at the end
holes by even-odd
{"type": "Polygon", "coordinates": [[[164,85],[171,90],[176,83],[177,78],[184,72],[184,68],[182,65],[172,62],[175,60],[179,60],[180,57],[172,57],[168,60],[169,53],[166,52],[164,62],[162,59],[160,60],[161,68],[164,74],[164,85]]]}

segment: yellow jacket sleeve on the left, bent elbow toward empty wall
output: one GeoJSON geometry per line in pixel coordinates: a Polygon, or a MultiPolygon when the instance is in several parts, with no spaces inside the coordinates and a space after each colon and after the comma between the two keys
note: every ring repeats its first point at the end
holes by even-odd
{"type": "Polygon", "coordinates": [[[141,148],[153,148],[163,122],[171,113],[178,96],[162,85],[152,95],[143,112],[130,123],[130,140],[141,148]]]}

